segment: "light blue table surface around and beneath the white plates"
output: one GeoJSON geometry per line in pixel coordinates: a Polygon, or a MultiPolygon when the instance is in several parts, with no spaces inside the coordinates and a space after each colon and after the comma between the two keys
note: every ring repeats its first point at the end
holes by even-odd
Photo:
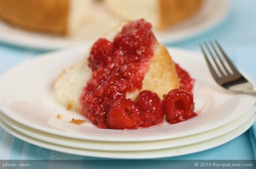
{"type": "MultiPolygon", "coordinates": [[[[256,0],[230,0],[231,11],[220,25],[200,36],[170,46],[200,52],[198,44],[218,39],[233,62],[256,81],[256,0]]],[[[216,9],[217,12],[217,9],[216,9]]],[[[4,33],[4,32],[0,32],[4,33]]],[[[0,43],[0,74],[43,51],[24,49],[0,43]]],[[[256,123],[254,124],[256,131],[256,123]]],[[[168,159],[250,159],[256,158],[256,140],[253,127],[241,136],[216,148],[168,159]]],[[[0,128],[0,159],[47,159],[36,152],[37,146],[14,138],[0,128]]],[[[74,156],[47,150],[50,154],[66,159],[97,159],[74,156]]]]}

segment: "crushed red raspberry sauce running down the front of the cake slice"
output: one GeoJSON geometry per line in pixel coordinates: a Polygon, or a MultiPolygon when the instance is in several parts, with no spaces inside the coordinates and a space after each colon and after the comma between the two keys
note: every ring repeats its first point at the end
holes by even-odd
{"type": "Polygon", "coordinates": [[[112,103],[142,88],[155,43],[151,25],[143,19],[125,25],[113,43],[103,38],[94,43],[88,58],[92,77],[80,97],[81,112],[94,125],[108,128],[112,103]]]}

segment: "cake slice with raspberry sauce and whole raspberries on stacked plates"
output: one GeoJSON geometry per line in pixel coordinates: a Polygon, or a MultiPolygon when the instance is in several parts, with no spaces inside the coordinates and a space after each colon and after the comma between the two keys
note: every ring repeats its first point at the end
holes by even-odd
{"type": "Polygon", "coordinates": [[[60,104],[105,129],[159,125],[164,114],[169,123],[195,116],[194,80],[172,61],[151,28],[140,19],[112,30],[112,38],[98,39],[87,56],[58,76],[54,88],[60,104]]]}

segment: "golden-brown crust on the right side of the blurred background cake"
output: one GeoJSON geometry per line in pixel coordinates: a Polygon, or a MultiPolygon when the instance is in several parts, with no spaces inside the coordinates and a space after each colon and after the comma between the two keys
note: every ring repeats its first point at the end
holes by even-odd
{"type": "Polygon", "coordinates": [[[199,11],[203,0],[159,0],[160,24],[158,29],[176,25],[199,11]]]}

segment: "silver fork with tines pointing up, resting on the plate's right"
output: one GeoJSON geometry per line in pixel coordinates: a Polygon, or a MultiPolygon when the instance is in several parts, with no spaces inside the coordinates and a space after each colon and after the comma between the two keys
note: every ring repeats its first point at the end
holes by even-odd
{"type": "Polygon", "coordinates": [[[199,45],[206,63],[208,64],[213,78],[220,86],[234,93],[251,94],[256,96],[256,92],[253,90],[253,85],[240,74],[216,40],[215,44],[211,41],[209,41],[210,45],[206,42],[203,44],[205,47],[203,47],[202,44],[199,45]],[[208,51],[211,60],[207,56],[206,51],[208,51]],[[213,53],[215,53],[215,56],[213,53]]]}

